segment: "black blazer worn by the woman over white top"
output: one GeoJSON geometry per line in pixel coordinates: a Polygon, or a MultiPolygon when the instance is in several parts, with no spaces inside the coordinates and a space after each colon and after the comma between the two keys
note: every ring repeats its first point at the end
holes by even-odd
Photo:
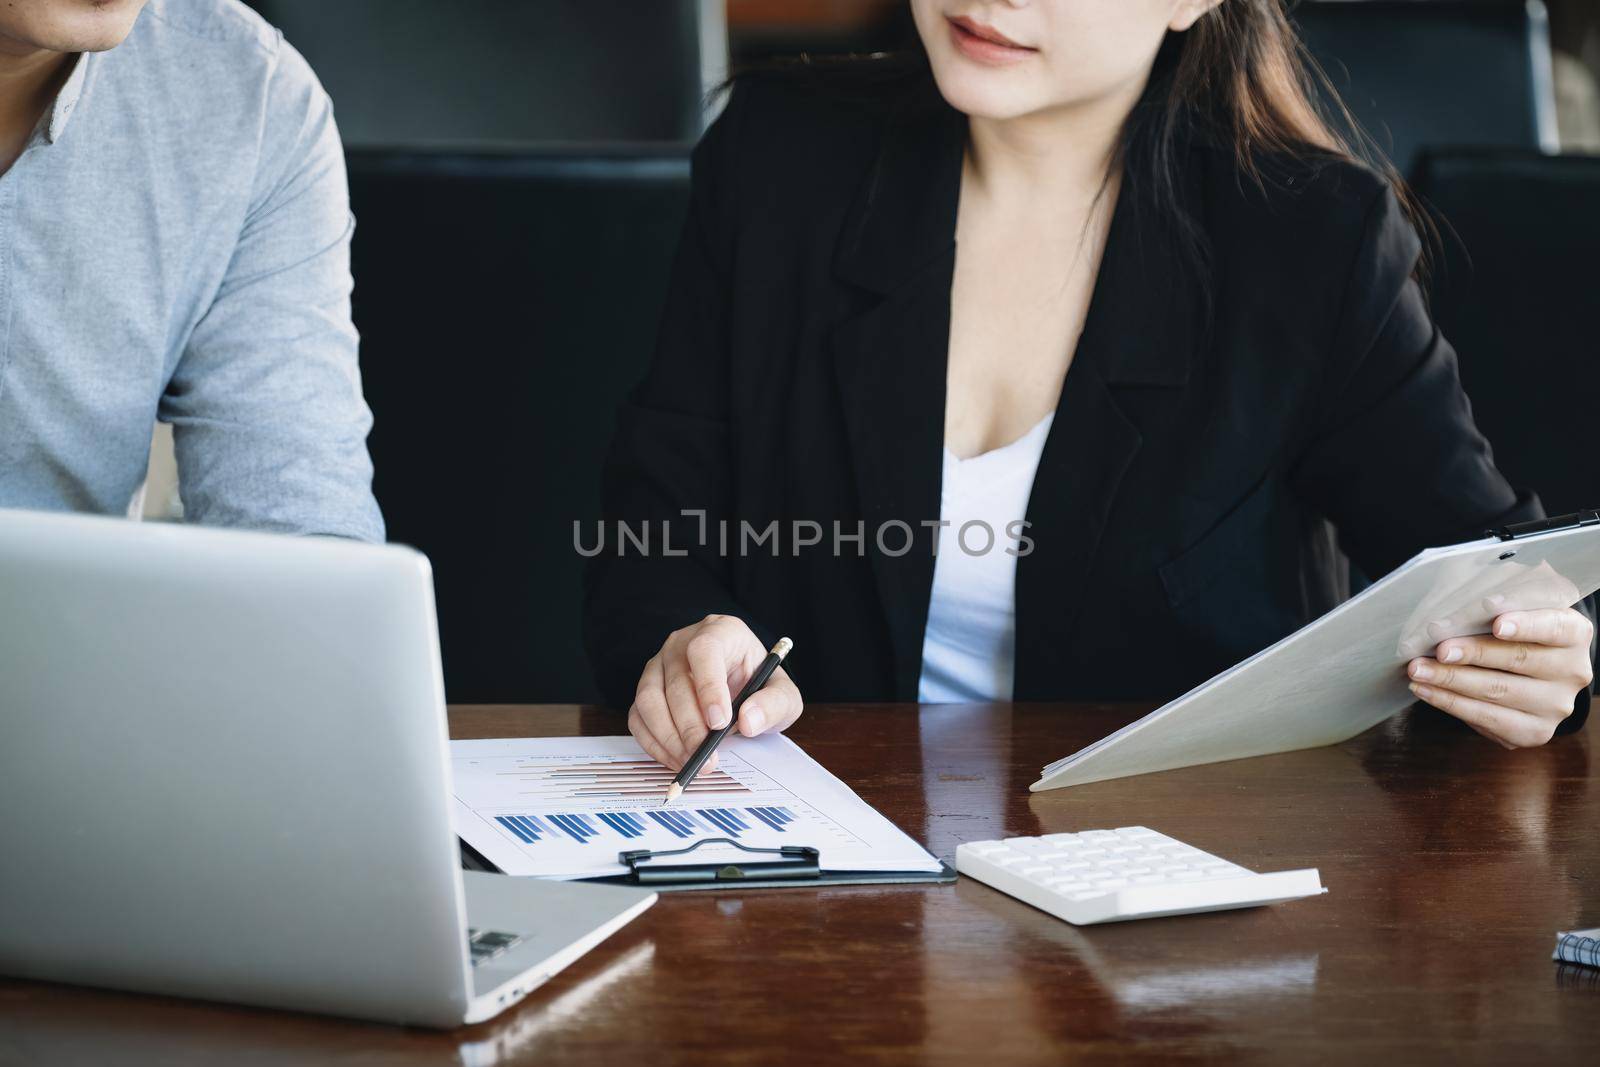
{"type": "MultiPolygon", "coordinates": [[[[696,149],[589,563],[608,701],[626,707],[667,633],[709,613],[794,637],[810,701],[917,699],[963,142],[942,102],[754,82],[696,149]],[[648,557],[619,555],[618,520],[650,525],[648,557]],[[741,555],[739,523],[773,520],[778,555],[741,555]],[[805,520],[822,544],[797,547],[805,520]],[[835,555],[834,523],[866,536],[835,555]]],[[[1342,162],[1264,166],[1262,190],[1230,149],[1182,155],[1210,288],[1125,182],[1027,507],[1019,701],[1170,699],[1338,605],[1346,553],[1378,576],[1541,515],[1474,427],[1387,184],[1342,162]]]]}

